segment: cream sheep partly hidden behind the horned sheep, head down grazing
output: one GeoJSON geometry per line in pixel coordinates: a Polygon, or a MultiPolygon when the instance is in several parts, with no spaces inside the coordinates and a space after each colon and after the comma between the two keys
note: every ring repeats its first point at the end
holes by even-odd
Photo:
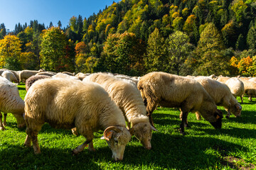
{"type": "Polygon", "coordinates": [[[92,81],[103,86],[110,94],[114,103],[122,110],[130,132],[142,142],[146,149],[151,149],[152,130],[156,130],[149,123],[146,116],[146,107],[137,86],[129,81],[118,79],[113,74],[96,73],[85,77],[82,81],[92,81]],[[132,124],[132,128],[131,128],[132,124]]]}

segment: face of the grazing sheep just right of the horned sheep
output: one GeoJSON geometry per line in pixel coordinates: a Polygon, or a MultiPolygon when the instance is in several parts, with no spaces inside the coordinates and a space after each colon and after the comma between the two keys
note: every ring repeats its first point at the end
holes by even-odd
{"type": "Polygon", "coordinates": [[[137,123],[129,131],[134,135],[146,149],[151,149],[152,127],[150,123],[137,123]]]}

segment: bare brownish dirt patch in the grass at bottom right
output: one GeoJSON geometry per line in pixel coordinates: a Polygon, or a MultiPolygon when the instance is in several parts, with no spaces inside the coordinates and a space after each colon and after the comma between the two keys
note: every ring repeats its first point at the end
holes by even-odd
{"type": "Polygon", "coordinates": [[[256,168],[254,164],[247,163],[244,159],[236,157],[223,157],[223,161],[221,163],[225,166],[230,166],[232,169],[249,170],[256,168]]]}

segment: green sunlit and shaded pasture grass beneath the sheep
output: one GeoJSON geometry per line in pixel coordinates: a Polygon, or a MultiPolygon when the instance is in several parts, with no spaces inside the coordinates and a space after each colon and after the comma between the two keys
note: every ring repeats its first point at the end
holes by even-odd
{"type": "MultiPolygon", "coordinates": [[[[18,89],[24,98],[25,86],[18,85],[18,89]]],[[[85,149],[73,156],[72,149],[85,138],[75,137],[70,130],[50,128],[47,123],[38,135],[42,153],[35,155],[32,148],[23,147],[25,129],[18,129],[9,113],[7,128],[0,131],[0,169],[255,169],[256,102],[244,101],[242,116],[223,118],[221,130],[190,113],[191,128],[185,129],[185,136],[177,130],[181,123],[178,109],[158,108],[153,118],[159,132],[153,132],[152,149],[144,149],[132,137],[122,162],[112,161],[107,142],[100,140],[102,131],[95,133],[96,152],[85,149]]]]}

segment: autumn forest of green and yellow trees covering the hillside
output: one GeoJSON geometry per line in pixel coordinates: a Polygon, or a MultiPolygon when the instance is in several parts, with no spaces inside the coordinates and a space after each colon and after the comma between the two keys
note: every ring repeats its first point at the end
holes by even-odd
{"type": "Polygon", "coordinates": [[[122,0],[69,25],[0,24],[0,68],[256,76],[255,0],[122,0]]]}

